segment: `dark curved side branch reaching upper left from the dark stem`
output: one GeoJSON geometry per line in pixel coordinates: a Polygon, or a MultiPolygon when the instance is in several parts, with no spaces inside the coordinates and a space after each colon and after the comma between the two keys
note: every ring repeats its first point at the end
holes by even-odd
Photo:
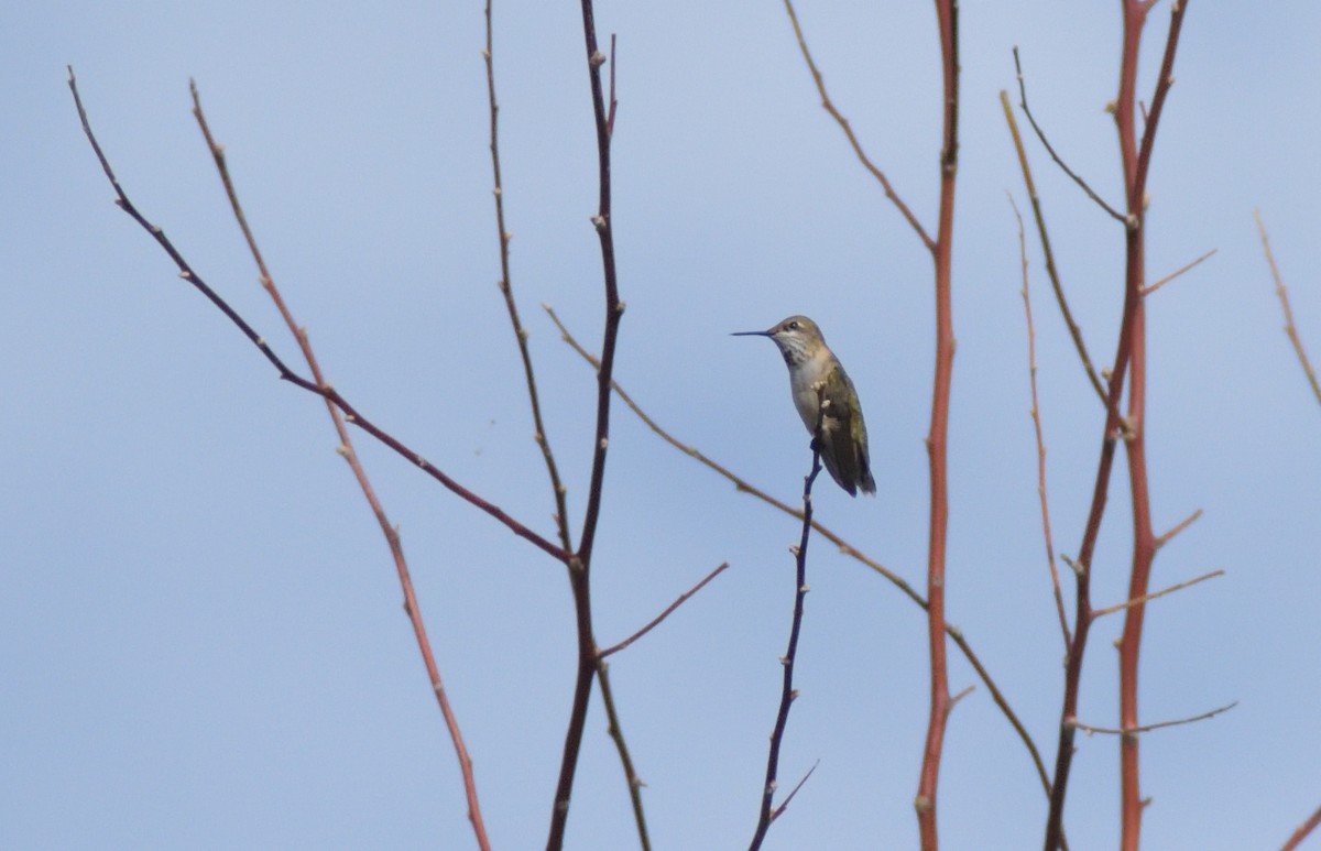
{"type": "Polygon", "coordinates": [[[271,363],[271,366],[276,369],[283,381],[287,381],[291,385],[295,385],[296,387],[301,387],[308,392],[316,394],[318,396],[330,400],[332,403],[334,403],[337,408],[339,408],[343,412],[346,422],[357,426],[358,428],[363,429],[380,443],[386,444],[387,447],[394,449],[395,453],[403,456],[410,464],[416,464],[419,468],[421,468],[423,472],[425,472],[428,476],[439,481],[452,493],[462,498],[465,502],[469,502],[477,509],[485,511],[486,514],[490,514],[501,523],[503,523],[506,527],[509,527],[509,530],[513,531],[519,538],[531,542],[538,548],[548,552],[560,562],[568,562],[571,559],[569,552],[565,552],[564,550],[555,546],[553,543],[551,543],[542,535],[536,534],[527,526],[515,521],[513,517],[506,514],[499,506],[487,502],[486,500],[478,497],[472,490],[464,488],[457,481],[454,481],[444,472],[441,472],[431,462],[428,462],[424,457],[421,457],[421,455],[404,445],[392,435],[382,431],[379,427],[373,424],[362,414],[359,414],[358,410],[353,407],[347,399],[341,396],[334,387],[332,386],[321,387],[316,382],[308,381],[306,378],[303,378],[292,369],[289,369],[284,363],[284,361],[280,359],[277,354],[275,354],[271,346],[266,342],[266,338],[258,334],[256,330],[254,330],[252,326],[247,322],[247,320],[239,316],[239,313],[234,308],[231,308],[229,303],[219,296],[219,293],[211,289],[211,287],[207,285],[206,281],[203,281],[197,275],[197,272],[193,271],[193,267],[189,266],[186,259],[184,259],[184,255],[181,255],[178,250],[174,247],[174,244],[169,240],[169,238],[165,237],[165,231],[162,231],[160,227],[147,221],[147,218],[137,210],[137,207],[133,206],[132,201],[128,200],[128,196],[124,194],[123,186],[120,186],[119,184],[119,178],[115,177],[115,172],[110,166],[110,161],[106,159],[106,155],[100,149],[100,144],[98,144],[95,135],[92,135],[91,126],[87,123],[87,114],[83,110],[82,99],[78,96],[78,87],[73,78],[71,70],[69,77],[69,87],[74,94],[74,103],[78,107],[78,116],[82,120],[83,132],[87,136],[87,141],[91,143],[92,151],[96,153],[96,159],[100,161],[102,170],[106,172],[106,177],[110,180],[110,184],[111,186],[114,186],[115,194],[118,196],[115,204],[119,206],[119,209],[127,213],[135,222],[137,222],[143,227],[143,230],[151,234],[152,239],[156,240],[156,243],[161,247],[161,250],[164,250],[165,254],[169,255],[169,258],[174,262],[174,266],[178,267],[180,278],[192,284],[211,304],[214,304],[215,308],[221,311],[221,313],[223,313],[226,318],[229,318],[234,324],[234,326],[238,328],[239,332],[242,332],[243,336],[247,337],[254,346],[256,346],[256,349],[271,363]]]}

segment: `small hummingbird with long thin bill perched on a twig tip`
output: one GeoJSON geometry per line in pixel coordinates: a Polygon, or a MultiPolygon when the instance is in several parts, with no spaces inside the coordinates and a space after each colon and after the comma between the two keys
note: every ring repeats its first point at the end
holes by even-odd
{"type": "Polygon", "coordinates": [[[849,381],[844,365],[826,345],[826,337],[816,322],[806,316],[790,316],[769,330],[745,330],[734,337],[770,337],[779,348],[789,366],[789,387],[794,394],[794,407],[803,424],[812,433],[822,462],[848,496],[876,493],[871,460],[867,455],[867,424],[857,403],[857,391],[849,381]],[[818,395],[819,394],[819,395],[818,395]],[[826,412],[820,416],[820,440],[816,440],[816,419],[820,402],[826,412]]]}

